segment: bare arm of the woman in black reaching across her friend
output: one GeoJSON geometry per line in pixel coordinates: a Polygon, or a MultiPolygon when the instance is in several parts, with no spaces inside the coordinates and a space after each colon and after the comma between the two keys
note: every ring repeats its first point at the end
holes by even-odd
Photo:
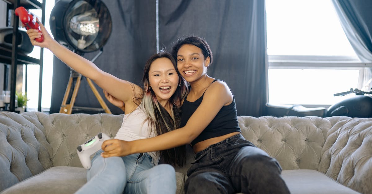
{"type": "Polygon", "coordinates": [[[185,145],[194,140],[211,123],[222,106],[232,101],[228,86],[217,81],[206,90],[203,101],[187,121],[186,126],[148,139],[106,140],[102,144],[103,157],[126,156],[132,153],[152,152],[185,145]],[[217,95],[218,94],[218,95],[217,95]]]}

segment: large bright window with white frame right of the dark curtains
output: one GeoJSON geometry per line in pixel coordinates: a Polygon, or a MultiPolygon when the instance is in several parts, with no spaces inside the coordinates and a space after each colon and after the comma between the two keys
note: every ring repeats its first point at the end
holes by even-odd
{"type": "Polygon", "coordinates": [[[363,88],[357,58],[331,0],[266,0],[270,104],[328,107],[363,88]]]}

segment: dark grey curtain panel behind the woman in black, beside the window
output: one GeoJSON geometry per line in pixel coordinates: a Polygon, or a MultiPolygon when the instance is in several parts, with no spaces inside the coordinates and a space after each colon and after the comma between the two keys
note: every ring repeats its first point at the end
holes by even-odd
{"type": "Polygon", "coordinates": [[[226,81],[238,115],[263,116],[266,104],[263,0],[159,0],[160,46],[203,37],[213,53],[208,75],[226,81]]]}

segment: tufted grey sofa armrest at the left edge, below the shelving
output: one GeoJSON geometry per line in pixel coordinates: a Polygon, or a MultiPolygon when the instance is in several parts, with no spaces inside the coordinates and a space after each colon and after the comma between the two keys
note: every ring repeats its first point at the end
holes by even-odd
{"type": "Polygon", "coordinates": [[[0,191],[51,167],[51,151],[36,113],[0,112],[0,191]]]}

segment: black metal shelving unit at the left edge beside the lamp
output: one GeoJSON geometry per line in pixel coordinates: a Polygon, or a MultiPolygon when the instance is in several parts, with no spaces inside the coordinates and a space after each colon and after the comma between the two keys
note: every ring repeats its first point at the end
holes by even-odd
{"type": "MultiPolygon", "coordinates": [[[[17,7],[25,7],[25,9],[41,9],[42,16],[41,22],[45,23],[45,1],[42,3],[37,0],[2,0],[7,3],[6,8],[6,19],[9,20],[9,10],[14,10],[17,7]]],[[[16,74],[17,65],[26,65],[26,77],[27,77],[27,65],[38,64],[40,66],[39,71],[39,99],[38,99],[38,111],[41,111],[41,89],[42,89],[42,69],[43,69],[43,55],[44,50],[40,49],[40,59],[36,59],[25,54],[18,52],[17,34],[19,26],[19,18],[15,16],[13,11],[13,37],[12,37],[12,49],[0,47],[0,63],[11,64],[10,67],[10,104],[9,110],[15,111],[15,97],[16,97],[16,74]]],[[[9,21],[7,21],[8,25],[9,21]]],[[[27,86],[27,81],[26,81],[27,86]]]]}

